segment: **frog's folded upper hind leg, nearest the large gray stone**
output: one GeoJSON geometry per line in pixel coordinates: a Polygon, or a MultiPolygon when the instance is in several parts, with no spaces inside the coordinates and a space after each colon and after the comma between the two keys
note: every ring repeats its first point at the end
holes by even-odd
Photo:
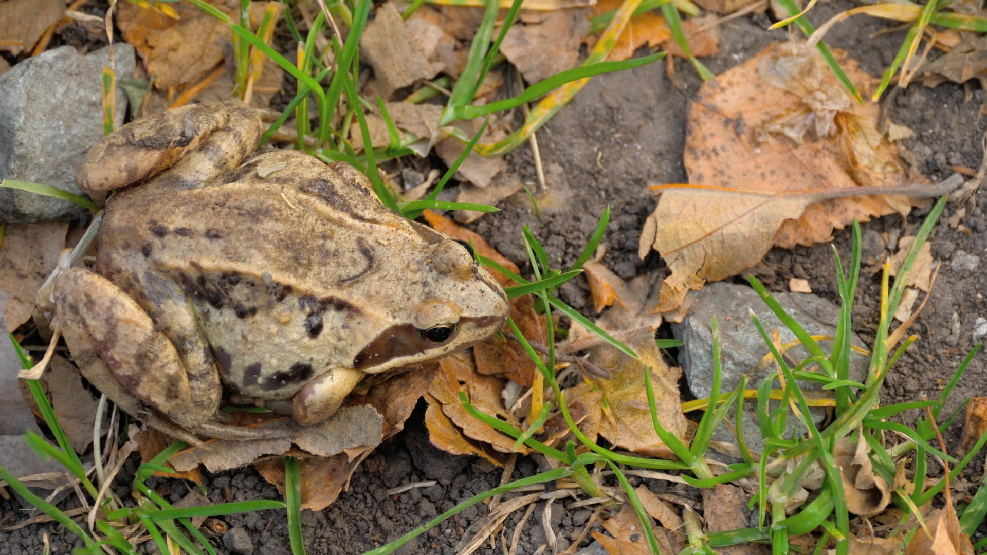
{"type": "Polygon", "coordinates": [[[96,143],[76,171],[79,189],[100,200],[180,165],[208,181],[236,168],[261,136],[260,113],[241,102],[184,106],[123,125],[96,143]]]}

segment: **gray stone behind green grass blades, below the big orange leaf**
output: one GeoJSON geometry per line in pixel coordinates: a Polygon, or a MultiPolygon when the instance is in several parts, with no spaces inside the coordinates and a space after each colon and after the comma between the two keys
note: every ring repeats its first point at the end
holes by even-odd
{"type": "MultiPolygon", "coordinates": [[[[778,329],[783,344],[796,339],[795,334],[782,324],[757,292],[746,285],[708,283],[702,290],[689,294],[695,298],[695,303],[682,323],[672,324],[672,333],[684,343],[679,350],[679,363],[682,365],[682,371],[692,394],[702,398],[709,397],[713,392],[713,330],[711,328],[713,317],[716,317],[720,323],[721,392],[731,391],[745,373],[748,378],[747,389],[757,389],[761,380],[775,371],[775,365],[772,363],[761,371],[756,370],[761,358],[770,351],[751,321],[750,310],[754,310],[769,334],[772,329],[778,329]]],[[[840,313],[838,306],[813,294],[773,294],[809,335],[836,334],[836,322],[840,313]]],[[[853,336],[853,343],[864,346],[864,342],[856,335],[853,336]]],[[[829,345],[831,345],[829,342],[823,342],[823,350],[825,351],[829,345]]],[[[787,355],[795,360],[808,357],[808,353],[802,347],[790,350],[787,355]]],[[[851,353],[850,361],[850,379],[864,381],[869,358],[851,353]]],[[[802,380],[799,380],[798,385],[805,390],[820,388],[817,383],[802,380]]],[[[774,407],[777,407],[776,402],[772,402],[772,408],[774,407]]],[[[814,408],[811,411],[816,425],[821,424],[825,418],[825,410],[814,408]]],[[[753,400],[746,401],[743,415],[744,438],[747,445],[751,449],[760,451],[764,443],[758,425],[757,403],[753,400]]],[[[788,424],[787,434],[796,430],[796,426],[799,433],[803,432],[794,416],[790,415],[788,424]]],[[[721,426],[714,433],[714,439],[736,442],[736,438],[725,426],[721,426]]]]}

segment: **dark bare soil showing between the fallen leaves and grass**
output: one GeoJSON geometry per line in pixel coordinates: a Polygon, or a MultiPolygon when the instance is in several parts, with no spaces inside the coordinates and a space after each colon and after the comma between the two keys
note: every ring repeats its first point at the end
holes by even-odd
{"type": "MultiPolygon", "coordinates": [[[[818,26],[852,6],[843,0],[821,3],[810,12],[809,19],[818,26]]],[[[787,40],[786,31],[766,31],[771,23],[764,15],[725,23],[720,54],[704,62],[719,73],[757,53],[769,41],[787,40]]],[[[864,69],[877,76],[893,59],[904,32],[899,30],[877,37],[872,34],[893,26],[858,16],[838,25],[826,40],[833,46],[851,51],[864,69]]],[[[656,254],[652,253],[644,261],[639,260],[637,254],[642,223],[655,204],[646,186],[649,183],[680,183],[686,179],[682,166],[685,110],[700,85],[687,62],[675,60],[674,68],[674,79],[669,77],[664,62],[594,78],[538,133],[548,180],[548,191],[541,192],[544,196],[539,201],[541,219],[536,219],[530,201],[522,193],[502,202],[501,211],[484,216],[474,229],[502,254],[522,263],[526,254],[520,229],[522,224],[527,224],[542,240],[553,264],[562,267],[578,256],[598,215],[609,204],[613,215],[604,238],[607,251],[603,264],[622,278],[660,269],[663,265],[656,254]]],[[[952,166],[979,167],[983,157],[981,138],[987,130],[987,120],[980,112],[983,100],[979,85],[945,84],[932,90],[912,85],[904,91],[892,91],[885,95],[883,103],[890,119],[916,131],[916,137],[906,140],[905,145],[916,153],[920,161],[918,169],[936,180],[947,177],[952,166]]],[[[526,182],[535,182],[531,151],[527,146],[511,153],[508,160],[511,171],[517,172],[526,182]]],[[[947,220],[959,207],[950,205],[941,221],[947,220]]],[[[969,234],[945,223],[934,231],[932,252],[944,262],[944,267],[929,305],[912,328],[912,332],[921,338],[919,344],[902,357],[887,377],[882,404],[937,396],[953,369],[972,347],[973,323],[977,317],[987,317],[987,299],[982,294],[984,283],[987,283],[987,267],[981,264],[971,271],[959,271],[950,267],[950,262],[959,251],[980,257],[987,254],[985,209],[987,198],[980,196],[966,205],[966,215],[960,222],[971,231],[969,234]]],[[[924,211],[919,209],[908,218],[887,216],[863,224],[866,234],[876,232],[876,237],[881,239],[875,240],[875,235],[870,233],[865,265],[893,252],[883,243],[883,234],[892,239],[912,234],[923,215],[924,211]]],[[[848,231],[836,234],[835,246],[840,253],[850,252],[848,231]]],[[[839,302],[829,245],[799,247],[792,251],[775,249],[754,273],[776,290],[786,289],[789,278],[807,278],[814,292],[839,302]]],[[[584,281],[569,284],[563,289],[563,295],[572,306],[588,313],[591,308],[584,285],[584,281]]],[[[878,295],[879,274],[864,273],[854,317],[855,331],[868,340],[873,340],[878,295]]],[[[983,356],[973,359],[950,398],[948,412],[967,397],[987,395],[985,364],[983,356]]],[[[418,409],[407,430],[379,447],[356,471],[348,491],[333,506],[321,513],[304,513],[303,529],[309,553],[362,553],[396,539],[456,503],[500,482],[499,469],[432,447],[422,424],[423,411],[420,406],[418,409]],[[436,480],[437,483],[401,494],[387,493],[390,488],[422,480],[436,480]]],[[[906,419],[914,416],[906,415],[906,419]]],[[[949,440],[956,445],[958,436],[950,434],[949,440]]],[[[983,460],[981,454],[968,467],[967,479],[979,477],[983,460]]],[[[130,461],[127,470],[132,473],[135,466],[136,463],[130,461]]],[[[539,470],[533,459],[522,457],[512,478],[539,470]]],[[[117,486],[124,498],[129,498],[127,480],[127,477],[121,478],[117,486]]],[[[157,484],[172,501],[190,495],[190,488],[181,481],[159,479],[157,484]]],[[[649,482],[648,487],[655,492],[698,499],[695,492],[664,482],[649,482]]],[[[208,476],[205,490],[213,503],[279,498],[274,488],[252,468],[208,476]]],[[[554,503],[549,517],[548,523],[559,534],[560,548],[569,545],[591,513],[586,509],[566,509],[571,502],[564,499],[554,503]]],[[[73,503],[70,501],[68,505],[73,507],[73,503]]],[[[525,523],[518,553],[534,553],[545,543],[544,505],[545,502],[540,502],[539,508],[525,523]]],[[[456,546],[470,525],[487,513],[485,505],[469,509],[419,536],[401,553],[456,553],[456,546]]],[[[24,514],[16,500],[0,501],[0,520],[4,524],[22,517],[24,514]]],[[[520,517],[521,512],[508,517],[503,529],[495,534],[496,545],[488,542],[477,553],[504,553],[502,545],[509,546],[520,517]]],[[[224,516],[222,520],[230,529],[243,529],[235,533],[246,532],[250,549],[243,553],[290,553],[283,512],[224,516]]],[[[977,541],[985,532],[985,526],[981,526],[973,540],[977,541]]],[[[40,553],[44,534],[50,541],[51,553],[67,553],[73,544],[81,546],[74,536],[59,531],[53,524],[34,524],[0,532],[0,555],[40,553]]],[[[152,543],[145,545],[150,547],[152,543]]],[[[225,542],[223,538],[215,537],[214,545],[218,553],[234,552],[230,550],[235,546],[232,537],[225,542]]]]}

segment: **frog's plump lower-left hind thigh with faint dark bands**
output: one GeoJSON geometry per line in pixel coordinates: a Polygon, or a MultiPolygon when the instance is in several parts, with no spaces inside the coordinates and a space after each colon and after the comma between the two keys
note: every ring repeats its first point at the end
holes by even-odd
{"type": "Polygon", "coordinates": [[[175,347],[114,283],[73,268],[55,283],[55,310],[83,374],[127,412],[139,414],[140,399],[184,427],[212,416],[214,404],[191,398],[175,347]]]}

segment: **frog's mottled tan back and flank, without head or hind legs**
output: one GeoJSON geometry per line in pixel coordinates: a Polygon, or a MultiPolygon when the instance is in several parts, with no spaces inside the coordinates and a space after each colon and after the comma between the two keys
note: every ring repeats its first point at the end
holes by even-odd
{"type": "Polygon", "coordinates": [[[287,397],[351,366],[409,299],[429,294],[402,288],[417,273],[396,255],[443,237],[348,177],[272,151],[210,184],[164,175],[124,190],[107,208],[98,271],[151,314],[190,300],[224,381],[287,397]]]}

